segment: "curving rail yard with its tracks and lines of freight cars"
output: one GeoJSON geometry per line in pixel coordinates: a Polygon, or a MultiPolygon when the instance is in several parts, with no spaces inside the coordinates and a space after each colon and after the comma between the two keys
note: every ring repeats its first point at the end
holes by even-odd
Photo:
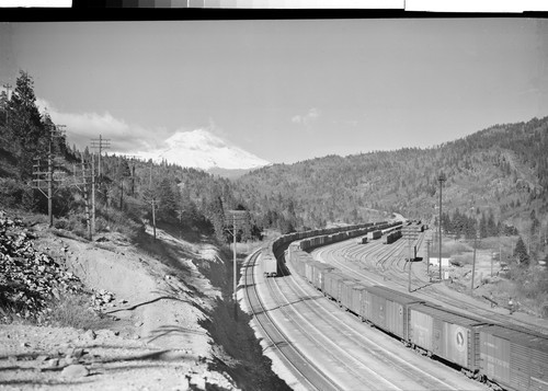
{"type": "Polygon", "coordinates": [[[306,390],[547,390],[545,325],[447,295],[410,262],[422,227],[409,243],[402,225],[293,233],[249,258],[246,304],[281,377],[306,390]]]}

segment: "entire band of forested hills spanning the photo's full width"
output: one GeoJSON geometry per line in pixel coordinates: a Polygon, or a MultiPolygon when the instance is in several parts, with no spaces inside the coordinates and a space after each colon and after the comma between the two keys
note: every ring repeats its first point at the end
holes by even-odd
{"type": "Polygon", "coordinates": [[[535,255],[546,254],[548,117],[495,125],[429,149],[275,164],[233,181],[104,151],[99,164],[96,149],[69,147],[58,130],[38,112],[33,80],[22,71],[10,96],[0,94],[0,203],[47,212],[52,148],[55,225],[81,235],[89,232],[92,176],[96,232],[142,231],[155,205],[158,223],[227,241],[226,215],[232,209],[248,211],[244,238],[259,238],[265,228],[285,233],[386,219],[391,212],[437,222],[443,172],[446,232],[518,233],[535,255]]]}

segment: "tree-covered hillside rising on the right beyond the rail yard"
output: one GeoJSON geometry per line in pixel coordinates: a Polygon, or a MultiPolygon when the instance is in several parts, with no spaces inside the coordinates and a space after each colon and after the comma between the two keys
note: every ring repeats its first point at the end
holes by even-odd
{"type": "Polygon", "coordinates": [[[534,118],[429,149],[275,164],[235,181],[235,192],[265,217],[265,226],[277,219],[296,228],[359,222],[372,210],[437,221],[443,172],[444,220],[456,216],[460,233],[466,234],[464,217],[481,222],[483,234],[490,221],[490,233],[515,227],[540,250],[548,230],[547,151],[548,117],[534,118]]]}

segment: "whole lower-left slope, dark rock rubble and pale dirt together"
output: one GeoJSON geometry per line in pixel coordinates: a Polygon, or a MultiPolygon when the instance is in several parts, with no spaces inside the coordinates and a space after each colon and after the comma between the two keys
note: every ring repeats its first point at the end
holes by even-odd
{"type": "Polygon", "coordinates": [[[179,242],[175,265],[116,234],[88,242],[1,221],[0,388],[238,389],[229,375],[210,369],[222,357],[201,326],[218,291],[192,261],[219,262],[214,248],[179,242]],[[64,300],[69,291],[94,308],[89,319],[99,310],[102,323],[57,326],[59,318],[48,317],[62,312],[56,306],[69,318],[81,315],[64,300]],[[24,304],[3,306],[7,298],[24,304]]]}

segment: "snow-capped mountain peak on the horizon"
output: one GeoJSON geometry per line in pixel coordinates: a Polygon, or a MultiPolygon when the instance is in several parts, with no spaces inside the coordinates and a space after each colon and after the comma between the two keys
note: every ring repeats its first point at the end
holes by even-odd
{"type": "Polygon", "coordinates": [[[169,163],[202,170],[244,170],[270,164],[266,160],[230,145],[205,129],[179,131],[168,138],[165,145],[164,149],[139,153],[139,157],[153,161],[164,159],[169,163]]]}

